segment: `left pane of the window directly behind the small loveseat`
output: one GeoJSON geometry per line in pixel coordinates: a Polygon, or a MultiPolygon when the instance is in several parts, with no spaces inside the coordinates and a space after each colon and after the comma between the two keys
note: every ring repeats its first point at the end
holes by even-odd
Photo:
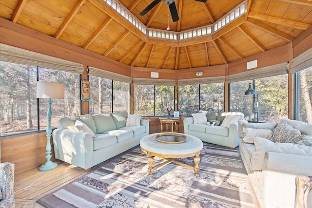
{"type": "Polygon", "coordinates": [[[199,111],[199,85],[179,86],[178,110],[180,115],[191,115],[199,111]]]}

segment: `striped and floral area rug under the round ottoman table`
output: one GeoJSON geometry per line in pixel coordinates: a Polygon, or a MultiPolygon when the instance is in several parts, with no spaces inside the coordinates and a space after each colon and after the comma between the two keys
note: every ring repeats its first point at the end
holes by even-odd
{"type": "MultiPolygon", "coordinates": [[[[46,208],[257,208],[239,151],[204,143],[199,177],[169,163],[148,177],[139,147],[41,198],[46,208]]],[[[179,159],[194,166],[192,157],[179,159]]],[[[155,157],[153,166],[164,160],[155,157]]]]}

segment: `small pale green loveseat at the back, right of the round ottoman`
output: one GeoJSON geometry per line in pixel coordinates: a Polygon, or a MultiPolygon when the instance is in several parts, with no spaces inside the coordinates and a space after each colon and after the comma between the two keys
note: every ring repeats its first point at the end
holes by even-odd
{"type": "Polygon", "coordinates": [[[239,138],[237,137],[237,120],[244,119],[243,113],[200,113],[206,114],[206,119],[202,122],[194,122],[194,117],[185,118],[183,120],[184,133],[196,136],[204,142],[222,145],[225,147],[229,147],[230,149],[234,149],[239,145],[239,138]],[[237,120],[225,126],[210,126],[207,124],[208,121],[223,121],[227,115],[230,115],[232,117],[235,116],[237,117],[237,120]]]}

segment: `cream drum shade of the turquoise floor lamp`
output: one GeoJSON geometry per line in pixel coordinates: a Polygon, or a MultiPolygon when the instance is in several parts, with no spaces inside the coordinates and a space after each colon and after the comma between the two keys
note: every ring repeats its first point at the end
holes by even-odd
{"type": "Polygon", "coordinates": [[[65,85],[58,82],[37,82],[37,98],[64,99],[65,85]]]}

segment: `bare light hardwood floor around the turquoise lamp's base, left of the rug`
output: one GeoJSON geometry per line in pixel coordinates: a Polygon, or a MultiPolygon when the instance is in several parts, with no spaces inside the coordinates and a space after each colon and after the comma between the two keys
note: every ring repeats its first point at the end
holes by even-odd
{"type": "MultiPolygon", "coordinates": [[[[43,208],[36,202],[38,199],[87,174],[77,166],[58,163],[58,168],[54,170],[40,172],[36,168],[15,175],[16,208],[43,208]]],[[[100,164],[92,170],[99,166],[100,164]]]]}

